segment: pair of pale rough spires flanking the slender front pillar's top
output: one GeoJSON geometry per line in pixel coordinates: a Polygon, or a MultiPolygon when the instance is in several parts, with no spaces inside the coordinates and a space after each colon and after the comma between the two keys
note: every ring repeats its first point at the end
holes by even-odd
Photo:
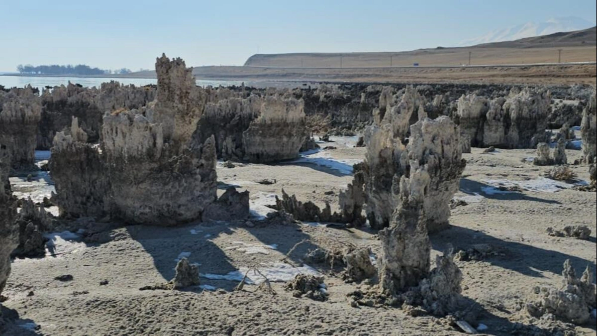
{"type": "Polygon", "coordinates": [[[460,130],[448,117],[428,118],[411,126],[410,140],[404,146],[393,136],[389,124],[367,130],[367,155],[364,162],[367,218],[373,228],[389,225],[398,204],[401,176],[411,169],[426,166],[430,178],[424,212],[430,231],[447,226],[449,201],[458,189],[466,166],[462,160],[460,130]],[[394,182],[395,181],[395,182],[394,182]]]}

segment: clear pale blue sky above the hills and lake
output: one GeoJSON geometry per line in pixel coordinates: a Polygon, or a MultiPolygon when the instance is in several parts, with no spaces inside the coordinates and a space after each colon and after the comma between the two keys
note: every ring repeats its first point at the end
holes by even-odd
{"type": "Polygon", "coordinates": [[[0,0],[0,71],[19,64],[243,65],[256,53],[456,45],[552,17],[595,23],[595,0],[0,0]]]}

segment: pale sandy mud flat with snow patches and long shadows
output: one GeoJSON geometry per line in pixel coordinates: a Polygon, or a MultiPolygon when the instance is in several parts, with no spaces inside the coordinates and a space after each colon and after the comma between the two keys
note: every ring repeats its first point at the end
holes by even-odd
{"type": "MultiPolygon", "coordinates": [[[[338,144],[337,149],[319,154],[340,164],[362,159],[365,151],[338,144]]],[[[498,149],[484,154],[477,148],[463,154],[467,166],[454,199],[467,205],[452,209],[451,228],[430,236],[432,257],[450,247],[481,251],[481,258],[456,259],[456,264],[463,273],[462,294],[482,309],[476,326],[487,326],[484,332],[489,334],[512,334],[531,328],[531,323],[550,334],[552,322],[531,320],[525,314],[533,287],[559,286],[566,259],[578,271],[589,265],[595,273],[595,193],[542,178],[543,169],[522,163],[533,155],[531,149],[498,149]],[[508,185],[518,185],[522,191],[500,190],[508,185]],[[547,227],[573,224],[587,225],[592,231],[589,239],[552,237],[545,231],[547,227]]],[[[567,155],[575,160],[580,158],[580,151],[568,150],[567,155]]],[[[589,180],[586,166],[574,166],[573,170],[581,181],[589,180]]],[[[329,267],[305,261],[309,250],[331,249],[337,241],[370,248],[379,255],[376,232],[365,228],[338,230],[319,223],[260,223],[260,213],[270,210],[259,204],[273,204],[270,195],[280,195],[282,188],[319,206],[325,201],[334,204],[337,198],[327,192],[343,190],[352,179],[350,173],[320,166],[317,161],[291,161],[235,168],[218,164],[217,175],[221,185],[238,185],[250,191],[254,226],[224,222],[196,222],[176,228],[133,225],[107,231],[104,240],[96,243],[85,243],[79,234],[54,233],[48,242],[53,252],[49,250],[46,258],[14,260],[2,293],[8,297],[3,303],[5,309],[19,311],[17,324],[39,326],[39,332],[48,335],[460,334],[432,316],[413,317],[399,308],[353,308],[346,295],[368,288],[366,283],[344,283],[338,270],[331,273],[329,267]],[[263,179],[276,183],[260,184],[263,179]],[[305,239],[309,242],[293,249],[305,239]],[[172,279],[181,256],[199,264],[201,285],[174,292],[139,290],[172,279]],[[281,261],[284,258],[286,261],[281,261]],[[254,266],[267,271],[264,274],[276,295],[256,292],[257,285],[232,291],[244,272],[254,266]],[[292,279],[297,269],[324,276],[327,301],[295,298],[284,291],[283,281],[292,279]],[[54,279],[64,274],[73,279],[54,279]],[[100,285],[104,282],[106,285],[100,285]]],[[[250,273],[250,277],[260,282],[260,276],[250,273]]],[[[569,331],[594,334],[594,319],[591,323],[592,327],[572,326],[569,331]]]]}

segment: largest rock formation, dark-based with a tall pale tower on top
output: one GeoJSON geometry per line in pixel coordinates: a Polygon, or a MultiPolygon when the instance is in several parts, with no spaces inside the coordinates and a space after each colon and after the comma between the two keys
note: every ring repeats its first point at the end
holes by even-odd
{"type": "MultiPolygon", "coordinates": [[[[104,115],[99,146],[86,142],[76,118],[70,134],[57,133],[50,168],[61,214],[176,225],[230,203],[216,202],[214,138],[193,140],[207,98],[191,71],[181,59],[159,57],[158,100],[104,115]]],[[[235,199],[242,203],[233,213],[248,213],[248,197],[235,199]]]]}

